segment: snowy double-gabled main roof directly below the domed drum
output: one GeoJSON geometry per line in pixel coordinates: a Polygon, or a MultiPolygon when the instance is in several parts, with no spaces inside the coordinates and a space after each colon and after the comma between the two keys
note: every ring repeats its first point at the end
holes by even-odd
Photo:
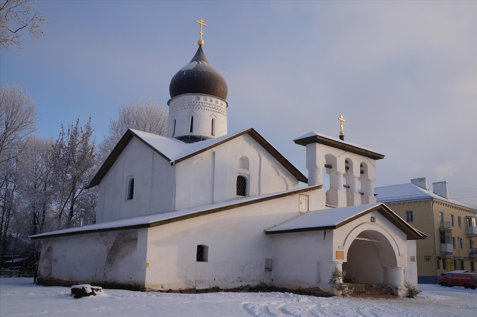
{"type": "Polygon", "coordinates": [[[131,141],[133,137],[137,137],[141,142],[169,161],[171,165],[174,165],[246,133],[249,134],[249,136],[255,141],[257,141],[257,143],[259,143],[267,152],[269,152],[271,156],[279,161],[280,164],[282,164],[283,167],[285,167],[285,169],[287,169],[297,180],[308,183],[308,179],[305,177],[305,175],[303,175],[299,169],[291,164],[288,159],[286,159],[276,148],[270,144],[270,142],[268,142],[252,127],[225,136],[211,138],[195,143],[184,143],[173,137],[163,137],[153,133],[128,129],[116,144],[113,151],[111,151],[107,159],[104,161],[101,168],[96,172],[93,180],[91,180],[85,189],[99,185],[103,177],[113,166],[116,159],[119,157],[121,152],[123,152],[124,148],[126,148],[129,141],[131,141]]]}

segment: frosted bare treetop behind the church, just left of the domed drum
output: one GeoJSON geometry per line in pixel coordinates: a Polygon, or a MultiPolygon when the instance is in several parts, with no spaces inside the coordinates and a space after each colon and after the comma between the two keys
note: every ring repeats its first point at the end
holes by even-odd
{"type": "Polygon", "coordinates": [[[151,100],[146,102],[140,100],[137,104],[132,102],[121,104],[118,119],[109,121],[109,135],[104,137],[99,145],[102,159],[106,159],[129,128],[165,136],[167,115],[168,112],[164,107],[157,106],[156,102],[151,100]]]}

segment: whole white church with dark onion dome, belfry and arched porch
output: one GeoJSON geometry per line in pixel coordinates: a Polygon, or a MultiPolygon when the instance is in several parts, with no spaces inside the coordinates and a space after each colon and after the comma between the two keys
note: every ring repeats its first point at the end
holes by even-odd
{"type": "Polygon", "coordinates": [[[306,177],[254,128],[228,133],[227,83],[198,44],[172,77],[167,137],[129,129],[86,187],[96,223],[31,236],[38,283],[326,296],[339,268],[406,295],[425,234],[376,203],[384,155],[312,131],[293,140],[306,177]]]}

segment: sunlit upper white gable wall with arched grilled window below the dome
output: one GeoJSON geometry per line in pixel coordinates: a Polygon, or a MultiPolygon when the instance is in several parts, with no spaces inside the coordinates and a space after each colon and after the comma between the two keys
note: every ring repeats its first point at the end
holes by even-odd
{"type": "Polygon", "coordinates": [[[245,134],[176,164],[176,210],[237,198],[237,176],[248,180],[249,196],[298,188],[298,180],[245,134]],[[249,168],[239,168],[246,157],[249,168]]]}

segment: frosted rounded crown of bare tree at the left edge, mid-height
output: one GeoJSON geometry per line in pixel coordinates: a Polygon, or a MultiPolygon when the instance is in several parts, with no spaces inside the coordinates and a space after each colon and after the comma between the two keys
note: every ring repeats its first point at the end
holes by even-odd
{"type": "Polygon", "coordinates": [[[0,164],[21,154],[18,141],[36,131],[35,101],[18,85],[2,85],[0,89],[0,164]]]}

